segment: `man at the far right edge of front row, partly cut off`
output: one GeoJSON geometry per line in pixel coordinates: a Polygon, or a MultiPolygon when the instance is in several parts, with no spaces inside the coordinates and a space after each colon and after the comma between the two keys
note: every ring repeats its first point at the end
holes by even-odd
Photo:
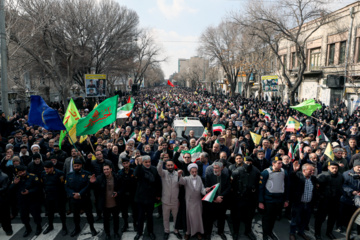
{"type": "MultiPolygon", "coordinates": [[[[360,196],[360,159],[354,161],[353,168],[344,172],[343,195],[340,198],[340,229],[346,229],[351,216],[358,209],[354,198],[360,196]]],[[[360,226],[357,225],[357,234],[360,235],[360,226]]]]}

